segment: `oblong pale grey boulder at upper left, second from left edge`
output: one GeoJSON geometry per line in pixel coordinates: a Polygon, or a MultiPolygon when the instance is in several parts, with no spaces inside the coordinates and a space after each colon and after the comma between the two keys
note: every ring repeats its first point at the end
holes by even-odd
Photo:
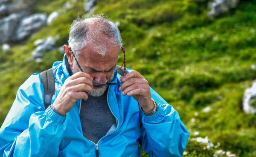
{"type": "Polygon", "coordinates": [[[24,40],[33,34],[35,31],[38,31],[43,26],[46,25],[47,15],[46,14],[32,14],[28,17],[24,17],[18,29],[16,31],[16,40],[24,40]]]}

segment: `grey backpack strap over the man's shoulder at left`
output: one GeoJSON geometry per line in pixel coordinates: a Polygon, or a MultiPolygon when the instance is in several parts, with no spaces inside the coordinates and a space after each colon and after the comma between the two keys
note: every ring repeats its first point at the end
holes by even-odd
{"type": "Polygon", "coordinates": [[[47,109],[51,105],[52,95],[55,93],[55,78],[52,68],[41,72],[40,76],[44,86],[44,106],[47,109]]]}

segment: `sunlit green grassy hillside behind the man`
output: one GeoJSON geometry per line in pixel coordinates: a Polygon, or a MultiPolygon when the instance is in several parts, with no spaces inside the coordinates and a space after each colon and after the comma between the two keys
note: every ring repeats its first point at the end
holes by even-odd
{"type": "MultiPolygon", "coordinates": [[[[256,157],[256,115],[241,111],[244,90],[256,79],[256,0],[242,0],[237,9],[217,19],[207,17],[209,0],[99,0],[95,13],[119,21],[127,67],[139,71],[180,113],[190,138],[208,136],[217,149],[239,157],[256,157]],[[205,107],[210,111],[204,112],[205,107]]],[[[70,1],[72,3],[72,1],[70,1]]],[[[35,12],[50,14],[64,0],[38,1],[35,12]]],[[[62,60],[58,51],[44,53],[43,63],[26,61],[33,42],[60,35],[67,43],[68,28],[83,16],[83,1],[72,3],[50,26],[0,52],[0,124],[15,99],[17,88],[35,72],[62,60]]],[[[120,61],[121,63],[121,61],[120,61]]],[[[189,157],[211,157],[215,149],[189,142],[189,157]]]]}

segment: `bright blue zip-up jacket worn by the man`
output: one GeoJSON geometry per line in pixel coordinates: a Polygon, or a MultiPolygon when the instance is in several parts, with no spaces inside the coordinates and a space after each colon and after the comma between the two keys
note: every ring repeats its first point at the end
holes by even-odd
{"type": "MultiPolygon", "coordinates": [[[[64,60],[52,66],[56,99],[69,77],[64,60]]],[[[131,70],[131,69],[130,69],[131,70]]],[[[120,82],[120,75],[112,83],[120,82]]],[[[81,100],[66,117],[50,107],[45,110],[44,88],[40,74],[32,74],[17,91],[16,99],[0,128],[0,157],[140,157],[140,146],[150,157],[180,157],[189,132],[177,111],[152,88],[157,112],[145,116],[131,96],[122,96],[120,85],[108,88],[108,105],[116,117],[116,126],[98,143],[87,140],[82,133],[79,110],[81,100]]]]}

